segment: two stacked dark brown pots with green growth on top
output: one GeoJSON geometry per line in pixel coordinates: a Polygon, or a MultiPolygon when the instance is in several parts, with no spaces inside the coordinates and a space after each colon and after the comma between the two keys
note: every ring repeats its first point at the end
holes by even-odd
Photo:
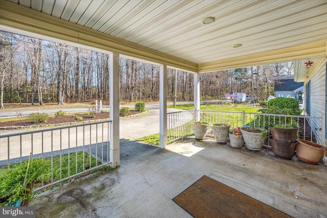
{"type": "Polygon", "coordinates": [[[269,125],[269,142],[276,157],[292,159],[297,146],[298,127],[291,124],[269,125]]]}

